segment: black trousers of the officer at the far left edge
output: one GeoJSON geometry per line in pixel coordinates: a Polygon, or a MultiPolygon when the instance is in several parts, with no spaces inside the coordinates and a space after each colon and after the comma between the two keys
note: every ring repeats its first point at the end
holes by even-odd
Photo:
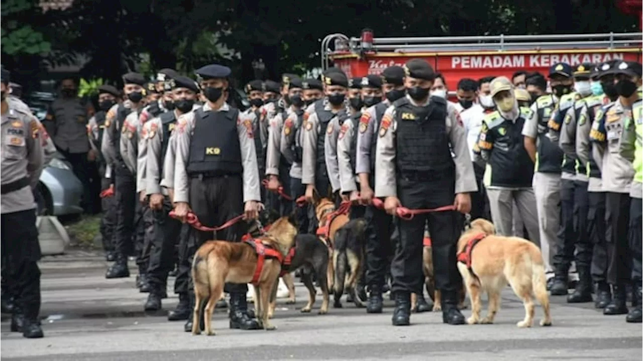
{"type": "Polygon", "coordinates": [[[31,321],[38,318],[41,307],[41,272],[38,261],[36,214],[33,209],[0,215],[0,254],[5,255],[7,293],[31,321]]]}

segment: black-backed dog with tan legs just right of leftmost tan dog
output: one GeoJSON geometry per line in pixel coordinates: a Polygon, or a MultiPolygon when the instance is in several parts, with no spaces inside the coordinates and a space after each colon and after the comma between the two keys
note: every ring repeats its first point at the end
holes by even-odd
{"type": "MultiPolygon", "coordinates": [[[[302,270],[302,282],[308,288],[308,303],[303,306],[301,312],[311,312],[312,304],[315,303],[315,296],[317,290],[315,289],[312,281],[313,275],[317,276],[323,301],[321,302],[320,315],[328,313],[329,304],[329,290],[327,270],[329,265],[329,252],[325,243],[321,242],[318,236],[314,234],[298,234],[294,238],[294,248],[291,249],[293,257],[290,260],[290,265],[282,265],[282,272],[294,272],[295,270],[302,270]]],[[[277,283],[273,287],[273,292],[270,297],[270,307],[268,317],[273,317],[276,306],[277,283]]]]}

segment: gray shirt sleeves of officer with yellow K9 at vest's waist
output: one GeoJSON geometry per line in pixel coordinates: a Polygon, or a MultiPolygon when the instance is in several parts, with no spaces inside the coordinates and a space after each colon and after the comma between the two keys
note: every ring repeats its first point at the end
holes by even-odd
{"type": "MultiPolygon", "coordinates": [[[[221,107],[222,111],[230,109],[228,103],[221,107]]],[[[203,111],[212,110],[210,103],[203,105],[203,111]]],[[[246,123],[252,123],[254,114],[239,113],[237,120],[237,133],[241,146],[241,159],[243,162],[243,201],[256,200],[260,202],[259,172],[257,168],[257,152],[252,130],[246,123]]],[[[174,202],[190,202],[190,177],[187,166],[190,158],[190,141],[194,132],[194,112],[183,114],[178,121],[179,125],[174,130],[176,133],[176,163],[174,168],[174,202]]]]}

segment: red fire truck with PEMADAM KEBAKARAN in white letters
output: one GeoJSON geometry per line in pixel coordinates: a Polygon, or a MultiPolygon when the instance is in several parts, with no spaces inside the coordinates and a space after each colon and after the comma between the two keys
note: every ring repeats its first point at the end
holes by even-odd
{"type": "Polygon", "coordinates": [[[366,29],[361,37],[340,33],[325,37],[321,67],[327,69],[332,61],[348,76],[356,77],[379,74],[411,58],[424,58],[444,75],[448,89],[455,91],[461,78],[511,78],[519,70],[547,75],[556,62],[574,66],[615,58],[641,61],[642,51],[643,33],[375,38],[373,31],[366,29]]]}

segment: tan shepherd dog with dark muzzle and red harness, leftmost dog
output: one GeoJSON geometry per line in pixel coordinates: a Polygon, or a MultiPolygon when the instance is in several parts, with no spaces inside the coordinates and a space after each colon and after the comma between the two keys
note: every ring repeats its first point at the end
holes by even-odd
{"type": "MultiPolygon", "coordinates": [[[[257,238],[259,245],[267,251],[276,251],[282,258],[290,251],[297,235],[294,216],[276,220],[270,230],[257,238]]],[[[253,241],[249,241],[253,242],[253,241]]],[[[212,330],[212,313],[217,300],[221,297],[225,283],[251,283],[258,266],[257,252],[245,242],[208,241],[197,250],[192,263],[194,279],[194,325],[192,334],[201,333],[201,304],[208,301],[204,311],[204,324],[207,335],[214,335],[212,330]]],[[[279,277],[282,265],[277,258],[264,258],[262,270],[255,288],[255,310],[257,321],[265,330],[275,330],[268,319],[269,297],[279,277]]]]}

